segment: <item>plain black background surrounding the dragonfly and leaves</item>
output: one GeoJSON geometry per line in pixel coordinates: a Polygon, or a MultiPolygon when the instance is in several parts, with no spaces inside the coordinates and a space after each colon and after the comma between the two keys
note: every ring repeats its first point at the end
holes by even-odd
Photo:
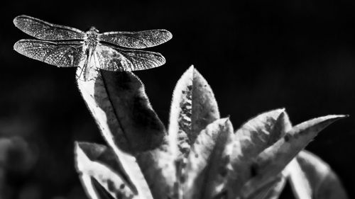
{"type": "MultiPolygon", "coordinates": [[[[1,2],[0,137],[11,140],[9,157],[19,157],[1,164],[6,199],[87,198],[74,168],[73,142],[104,143],[77,90],[75,69],[13,50],[16,40],[31,38],[12,23],[21,14],[82,30],[170,30],[173,39],[151,49],[167,63],[136,72],[165,124],[175,83],[191,64],[235,128],[280,107],[293,124],[355,115],[355,1],[1,2]]],[[[332,166],[350,198],[354,127],[354,117],[340,120],[307,147],[332,166]]]]}

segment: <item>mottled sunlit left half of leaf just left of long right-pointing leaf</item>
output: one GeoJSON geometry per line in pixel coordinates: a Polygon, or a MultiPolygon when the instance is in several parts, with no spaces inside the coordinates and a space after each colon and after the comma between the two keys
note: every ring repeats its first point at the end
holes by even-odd
{"type": "Polygon", "coordinates": [[[279,108],[257,115],[234,134],[232,169],[226,186],[228,198],[234,199],[240,194],[241,187],[253,176],[253,159],[280,136],[277,132],[280,127],[274,128],[274,125],[277,121],[278,125],[282,124],[286,115],[280,117],[280,114],[284,112],[283,108],[279,108]]]}

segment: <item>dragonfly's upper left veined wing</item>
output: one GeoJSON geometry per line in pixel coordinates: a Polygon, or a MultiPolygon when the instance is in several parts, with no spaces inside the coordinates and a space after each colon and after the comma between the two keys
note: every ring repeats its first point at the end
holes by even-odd
{"type": "Polygon", "coordinates": [[[55,25],[26,15],[16,16],[13,24],[24,33],[40,40],[82,40],[85,37],[82,30],[55,25]]]}

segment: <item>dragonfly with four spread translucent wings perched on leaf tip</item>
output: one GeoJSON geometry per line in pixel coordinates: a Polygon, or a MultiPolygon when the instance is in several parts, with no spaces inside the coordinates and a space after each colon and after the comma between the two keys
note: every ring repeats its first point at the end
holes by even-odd
{"type": "Polygon", "coordinates": [[[91,27],[84,32],[26,15],[14,18],[13,24],[36,38],[18,40],[14,50],[57,67],[80,67],[79,77],[83,75],[84,81],[92,68],[124,72],[159,67],[165,64],[163,55],[140,49],[160,45],[173,37],[163,29],[99,33],[91,27]]]}

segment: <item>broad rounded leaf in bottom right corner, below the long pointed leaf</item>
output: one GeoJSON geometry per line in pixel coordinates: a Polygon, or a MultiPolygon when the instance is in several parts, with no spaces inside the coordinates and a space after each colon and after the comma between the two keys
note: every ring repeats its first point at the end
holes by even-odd
{"type": "Polygon", "coordinates": [[[309,186],[309,195],[315,199],[346,199],[346,192],[339,178],[329,165],[319,157],[307,151],[300,152],[295,158],[298,168],[287,167],[290,174],[290,182],[295,195],[301,195],[298,187],[309,186]],[[297,183],[295,178],[302,178],[302,184],[297,183]]]}

